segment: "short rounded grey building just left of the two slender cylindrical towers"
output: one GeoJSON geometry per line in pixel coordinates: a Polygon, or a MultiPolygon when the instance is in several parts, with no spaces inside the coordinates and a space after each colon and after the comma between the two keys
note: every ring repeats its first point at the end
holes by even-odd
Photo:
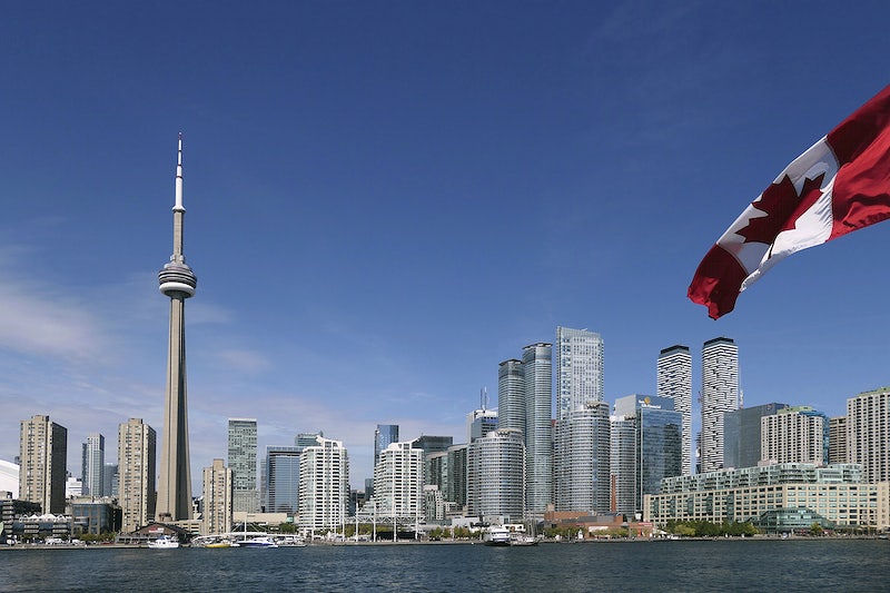
{"type": "Polygon", "coordinates": [[[525,444],[515,428],[498,428],[467,448],[467,515],[516,521],[525,516],[525,444]]]}

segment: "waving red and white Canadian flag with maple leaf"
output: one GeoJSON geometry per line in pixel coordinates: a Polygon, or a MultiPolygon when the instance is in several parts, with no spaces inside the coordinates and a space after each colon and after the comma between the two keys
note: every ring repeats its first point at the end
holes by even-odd
{"type": "Polygon", "coordinates": [[[716,319],[782,258],[890,218],[890,87],[794,159],[704,256],[689,298],[716,319]]]}

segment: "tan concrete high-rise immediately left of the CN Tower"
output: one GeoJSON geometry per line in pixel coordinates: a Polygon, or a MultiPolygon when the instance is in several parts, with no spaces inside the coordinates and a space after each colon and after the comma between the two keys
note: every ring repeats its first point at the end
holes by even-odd
{"type": "Polygon", "coordinates": [[[118,504],[121,531],[131,533],[155,518],[157,434],[140,418],[118,426],[118,504]]]}

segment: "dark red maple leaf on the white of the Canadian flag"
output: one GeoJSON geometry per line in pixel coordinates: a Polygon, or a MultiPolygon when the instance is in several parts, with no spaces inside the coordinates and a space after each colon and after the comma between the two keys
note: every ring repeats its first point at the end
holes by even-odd
{"type": "Polygon", "coordinates": [[[744,237],[745,243],[772,245],[780,233],[794,228],[798,218],[815,204],[822,195],[824,177],[825,174],[820,174],[815,179],[804,179],[801,192],[798,195],[794,184],[785,175],[778,184],[770,185],[760,200],[752,204],[767,216],[749,219],[748,225],[735,233],[744,237]]]}

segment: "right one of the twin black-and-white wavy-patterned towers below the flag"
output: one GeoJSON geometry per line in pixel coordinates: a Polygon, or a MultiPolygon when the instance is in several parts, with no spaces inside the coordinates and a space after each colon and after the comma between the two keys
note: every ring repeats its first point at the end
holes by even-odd
{"type": "Polygon", "coordinates": [[[739,409],[739,347],[725,337],[702,347],[701,471],[723,467],[723,414],[739,409]]]}

